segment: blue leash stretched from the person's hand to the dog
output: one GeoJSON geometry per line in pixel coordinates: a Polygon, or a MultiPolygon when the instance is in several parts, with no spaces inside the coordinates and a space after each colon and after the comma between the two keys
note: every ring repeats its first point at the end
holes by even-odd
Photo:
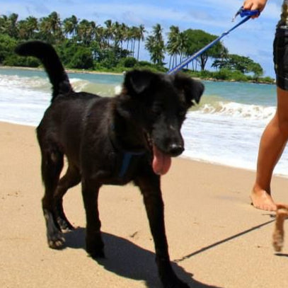
{"type": "Polygon", "coordinates": [[[177,66],[175,66],[174,68],[172,68],[171,70],[169,70],[167,72],[168,75],[170,74],[175,74],[176,72],[180,71],[181,69],[183,69],[185,66],[187,66],[190,62],[192,62],[194,59],[196,59],[197,57],[199,57],[202,53],[204,53],[206,50],[208,50],[210,47],[212,47],[214,44],[216,44],[217,42],[219,42],[222,38],[224,38],[224,36],[228,35],[231,31],[233,31],[234,29],[236,29],[238,26],[242,25],[243,23],[245,23],[246,21],[248,21],[252,16],[255,15],[260,15],[260,12],[258,10],[244,10],[243,7],[241,7],[237,13],[235,14],[234,18],[232,19],[232,21],[235,20],[236,16],[240,15],[241,17],[245,17],[243,20],[241,20],[239,23],[237,23],[236,25],[234,25],[230,30],[222,33],[218,38],[216,38],[215,40],[213,40],[212,42],[210,42],[208,45],[206,45],[205,47],[203,47],[201,50],[199,50],[198,52],[196,52],[195,54],[192,54],[190,57],[188,57],[187,59],[185,59],[182,63],[178,64],[177,66]]]}

